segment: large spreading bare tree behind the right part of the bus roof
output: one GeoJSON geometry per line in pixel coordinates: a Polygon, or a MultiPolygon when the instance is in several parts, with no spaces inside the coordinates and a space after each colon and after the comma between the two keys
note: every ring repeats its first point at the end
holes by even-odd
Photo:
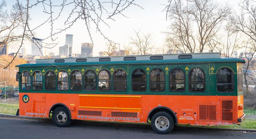
{"type": "Polygon", "coordinates": [[[166,33],[185,45],[190,53],[203,52],[230,14],[229,7],[212,0],[191,0],[186,5],[182,0],[174,0],[168,11],[174,22],[166,33]]]}

